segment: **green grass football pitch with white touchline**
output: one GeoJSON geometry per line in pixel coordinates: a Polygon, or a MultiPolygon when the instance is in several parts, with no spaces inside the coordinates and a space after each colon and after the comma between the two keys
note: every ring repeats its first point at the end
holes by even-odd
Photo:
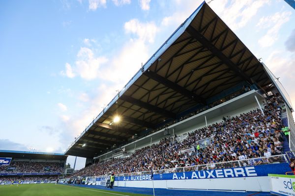
{"type": "Polygon", "coordinates": [[[0,185],[0,196],[147,196],[56,184],[0,185]]]}

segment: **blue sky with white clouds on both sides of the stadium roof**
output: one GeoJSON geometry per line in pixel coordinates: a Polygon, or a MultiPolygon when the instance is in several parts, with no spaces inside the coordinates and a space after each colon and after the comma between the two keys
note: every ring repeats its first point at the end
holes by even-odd
{"type": "MultiPolygon", "coordinates": [[[[201,2],[2,0],[0,149],[62,152],[201,2]]],[[[209,6],[295,103],[295,10],[284,0],[209,6]]]]}

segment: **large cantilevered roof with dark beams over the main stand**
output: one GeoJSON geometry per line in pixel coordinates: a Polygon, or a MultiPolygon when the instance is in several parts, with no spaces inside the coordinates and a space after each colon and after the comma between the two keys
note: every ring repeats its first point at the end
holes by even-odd
{"type": "Polygon", "coordinates": [[[115,144],[209,104],[210,98],[241,82],[264,93],[273,88],[261,62],[204,1],[65,154],[103,154],[115,144]],[[118,123],[116,116],[121,118],[118,123]]]}

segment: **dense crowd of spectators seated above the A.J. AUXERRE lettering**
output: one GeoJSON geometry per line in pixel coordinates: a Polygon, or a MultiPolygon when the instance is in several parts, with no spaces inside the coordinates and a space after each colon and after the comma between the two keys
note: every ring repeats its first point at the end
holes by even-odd
{"type": "MultiPolygon", "coordinates": [[[[215,169],[222,167],[219,163],[236,160],[240,160],[243,165],[274,162],[275,158],[268,157],[282,154],[283,150],[281,103],[280,97],[273,96],[264,103],[264,115],[257,109],[236,117],[223,118],[223,122],[188,133],[188,137],[180,142],[173,142],[175,138],[166,137],[158,144],[136,150],[130,157],[93,164],[76,172],[74,176],[177,169],[205,164],[209,164],[209,169],[215,169]],[[210,145],[197,149],[198,141],[212,136],[210,145]],[[181,152],[181,149],[188,147],[195,147],[195,150],[181,152]],[[256,159],[243,161],[250,158],[256,159]]],[[[235,164],[231,167],[236,167],[235,164]]]]}

